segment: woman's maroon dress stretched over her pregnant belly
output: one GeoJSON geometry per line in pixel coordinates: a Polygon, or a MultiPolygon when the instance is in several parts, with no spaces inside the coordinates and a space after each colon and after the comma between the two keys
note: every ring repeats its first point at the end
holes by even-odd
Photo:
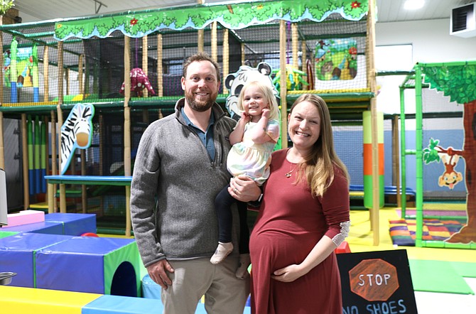
{"type": "Polygon", "coordinates": [[[324,235],[332,239],[341,232],[340,223],[350,220],[349,189],[339,168],[334,169],[334,181],[323,197],[312,197],[307,184],[293,185],[297,171],[293,167],[296,164],[286,160],[286,150],[273,153],[249,245],[251,313],[342,314],[340,274],[333,252],[296,281],[271,279],[273,271],[300,264],[324,235]]]}

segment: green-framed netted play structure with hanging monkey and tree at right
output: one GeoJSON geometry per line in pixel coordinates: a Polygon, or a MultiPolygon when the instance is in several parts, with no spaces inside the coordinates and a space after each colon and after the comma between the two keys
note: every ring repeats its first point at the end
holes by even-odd
{"type": "Polygon", "coordinates": [[[475,61],[417,63],[414,73],[401,85],[402,196],[406,191],[406,157],[415,155],[416,161],[415,212],[409,213],[406,197],[402,197],[401,217],[416,218],[418,247],[476,249],[476,185],[471,175],[476,147],[475,70],[475,61]],[[416,96],[414,149],[407,149],[406,144],[404,90],[408,88],[414,88],[416,96]],[[430,98],[428,88],[439,93],[430,98]],[[438,99],[441,102],[444,97],[449,97],[449,102],[443,100],[438,107],[438,99]],[[447,232],[431,237],[432,224],[447,232]]]}

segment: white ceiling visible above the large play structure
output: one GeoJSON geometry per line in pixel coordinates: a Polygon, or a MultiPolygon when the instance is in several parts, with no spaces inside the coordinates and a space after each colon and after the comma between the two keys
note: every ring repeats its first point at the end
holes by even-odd
{"type": "MultiPolygon", "coordinates": [[[[376,1],[378,8],[377,23],[385,23],[450,18],[451,9],[476,0],[425,0],[426,4],[417,11],[406,11],[404,9],[404,1],[406,0],[376,1]]],[[[241,1],[203,0],[203,2],[214,4],[241,1]]],[[[20,12],[19,16],[25,23],[54,18],[195,4],[198,4],[198,0],[15,0],[14,9],[20,12]]]]}

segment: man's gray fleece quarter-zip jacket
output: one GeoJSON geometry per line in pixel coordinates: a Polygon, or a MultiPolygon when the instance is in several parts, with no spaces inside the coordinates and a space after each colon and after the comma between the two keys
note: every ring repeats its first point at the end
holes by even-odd
{"type": "MultiPolygon", "coordinates": [[[[215,160],[180,114],[154,121],[141,137],[131,183],[131,220],[144,266],[161,259],[210,257],[218,244],[215,196],[229,183],[227,136],[235,121],[218,104],[215,160]]],[[[233,239],[237,247],[237,210],[233,239]]]]}

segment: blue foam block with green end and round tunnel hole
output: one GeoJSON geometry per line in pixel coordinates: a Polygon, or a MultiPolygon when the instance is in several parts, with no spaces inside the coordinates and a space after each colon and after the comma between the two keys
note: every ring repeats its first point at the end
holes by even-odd
{"type": "Polygon", "coordinates": [[[38,288],[140,296],[134,239],[71,237],[35,255],[38,288]]]}

